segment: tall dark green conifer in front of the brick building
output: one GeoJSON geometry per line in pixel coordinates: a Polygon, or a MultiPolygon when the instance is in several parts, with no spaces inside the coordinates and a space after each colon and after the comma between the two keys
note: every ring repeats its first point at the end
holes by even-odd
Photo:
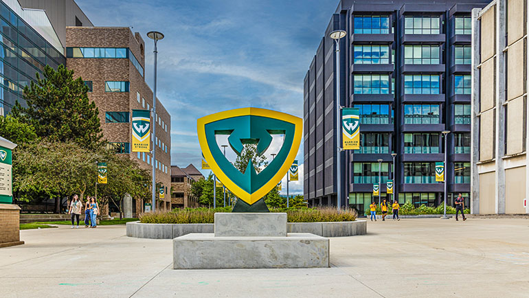
{"type": "Polygon", "coordinates": [[[74,71],[59,65],[55,71],[46,66],[44,78],[24,87],[27,108],[16,102],[12,115],[31,124],[38,137],[51,141],[74,141],[84,148],[102,144],[99,111],[88,99],[88,87],[81,78],[74,80],[74,71]]]}

